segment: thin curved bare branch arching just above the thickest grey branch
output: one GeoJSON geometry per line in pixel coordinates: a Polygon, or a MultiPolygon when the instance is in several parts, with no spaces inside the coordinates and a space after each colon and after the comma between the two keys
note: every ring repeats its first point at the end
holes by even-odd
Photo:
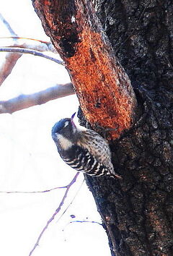
{"type": "Polygon", "coordinates": [[[25,49],[25,48],[17,48],[17,47],[1,47],[0,51],[6,51],[10,53],[20,53],[20,54],[33,54],[35,56],[40,56],[45,59],[50,59],[50,61],[55,61],[58,64],[63,65],[63,61],[60,61],[59,59],[50,57],[46,54],[42,54],[40,51],[34,51],[32,49],[25,49]]]}

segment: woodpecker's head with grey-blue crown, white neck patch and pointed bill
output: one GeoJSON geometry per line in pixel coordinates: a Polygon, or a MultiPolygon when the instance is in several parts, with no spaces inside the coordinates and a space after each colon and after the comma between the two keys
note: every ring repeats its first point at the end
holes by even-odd
{"type": "Polygon", "coordinates": [[[53,140],[64,150],[70,148],[76,140],[77,127],[74,124],[74,115],[71,118],[61,119],[52,129],[53,140]]]}

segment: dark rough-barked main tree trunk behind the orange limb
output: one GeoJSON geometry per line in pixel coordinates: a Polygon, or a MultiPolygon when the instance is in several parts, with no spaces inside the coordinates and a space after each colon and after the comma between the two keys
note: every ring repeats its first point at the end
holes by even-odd
{"type": "Polygon", "coordinates": [[[102,216],[112,256],[171,256],[173,3],[95,0],[94,4],[130,77],[141,114],[133,127],[110,143],[112,163],[123,180],[86,176],[86,182],[102,216]]]}

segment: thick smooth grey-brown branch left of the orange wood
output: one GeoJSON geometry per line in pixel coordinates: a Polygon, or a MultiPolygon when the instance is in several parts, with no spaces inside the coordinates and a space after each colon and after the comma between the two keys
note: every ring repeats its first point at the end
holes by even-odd
{"type": "Polygon", "coordinates": [[[48,101],[55,100],[56,98],[63,98],[73,94],[74,88],[70,82],[66,85],[56,85],[38,93],[19,95],[18,97],[12,98],[9,101],[0,101],[0,114],[12,114],[15,111],[19,111],[24,108],[41,105],[48,101]]]}

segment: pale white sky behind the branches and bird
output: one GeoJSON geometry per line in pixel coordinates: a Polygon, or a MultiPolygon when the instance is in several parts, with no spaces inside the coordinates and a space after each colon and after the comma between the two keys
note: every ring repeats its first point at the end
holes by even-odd
{"type": "MultiPolygon", "coordinates": [[[[21,37],[48,40],[30,0],[1,2],[1,14],[21,37]]],[[[9,36],[0,22],[0,37],[9,36]]],[[[4,40],[0,39],[0,44],[4,40]]],[[[5,44],[4,44],[5,46],[5,44]]],[[[0,64],[5,54],[0,53],[0,64]]],[[[17,61],[12,74],[0,87],[0,101],[21,93],[35,93],[56,83],[69,82],[60,65],[37,56],[25,55],[17,61]]],[[[0,191],[42,191],[71,182],[75,171],[58,156],[50,136],[51,127],[61,118],[70,117],[78,108],[75,95],[0,115],[0,191]]],[[[110,256],[107,235],[96,221],[99,213],[86,187],[84,176],[71,188],[61,212],[50,224],[33,256],[110,256]],[[79,190],[78,194],[76,192],[79,190]],[[74,195],[76,198],[60,221],[74,195]],[[71,215],[76,218],[71,218],[71,215]]],[[[29,256],[43,227],[58,207],[65,189],[42,194],[0,193],[0,255],[29,256]]]]}

